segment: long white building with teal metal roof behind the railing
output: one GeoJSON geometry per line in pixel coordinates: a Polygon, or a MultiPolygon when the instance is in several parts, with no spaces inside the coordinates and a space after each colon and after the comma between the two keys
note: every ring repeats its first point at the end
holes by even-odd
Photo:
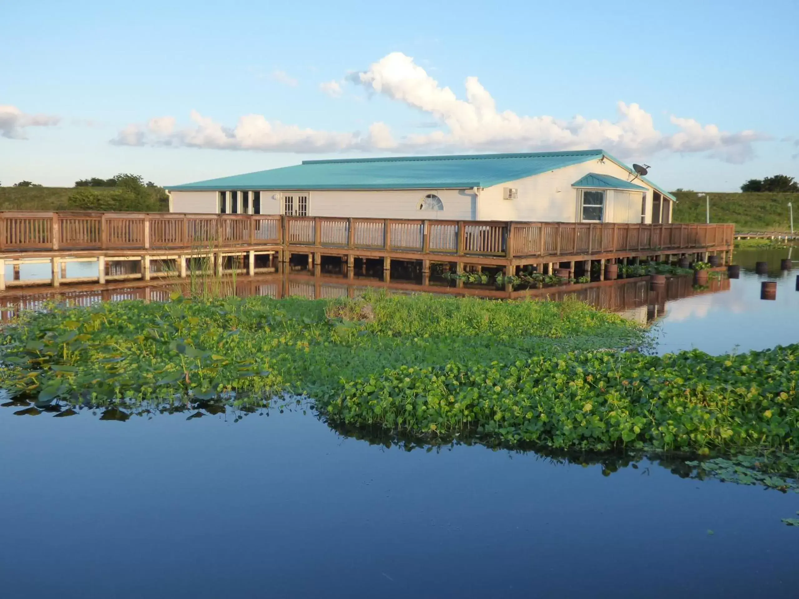
{"type": "Polygon", "coordinates": [[[353,158],[169,186],[170,210],[668,223],[674,196],[602,149],[353,158]]]}

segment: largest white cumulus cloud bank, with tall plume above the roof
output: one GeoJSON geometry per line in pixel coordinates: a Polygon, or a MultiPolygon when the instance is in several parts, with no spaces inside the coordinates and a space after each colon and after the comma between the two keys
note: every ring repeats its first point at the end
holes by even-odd
{"type": "MultiPolygon", "coordinates": [[[[497,109],[495,99],[477,77],[466,78],[465,97],[458,97],[449,87],[439,85],[413,58],[400,52],[384,56],[365,71],[349,73],[346,81],[426,113],[435,126],[426,133],[396,136],[388,125],[376,122],[362,135],[303,129],[251,114],[240,117],[238,124],[229,128],[192,113],[193,125],[189,127],[179,128],[171,117],[162,117],[146,125],[129,125],[117,134],[113,143],[280,152],[523,152],[602,148],[622,158],[658,152],[708,153],[740,163],[753,156],[753,142],[768,139],[755,131],[728,133],[717,125],[702,125],[694,119],[676,116],[670,119],[674,131],[661,133],[650,113],[638,104],[623,101],[618,102],[617,117],[612,121],[579,115],[570,119],[519,115],[497,109]]],[[[320,84],[320,89],[337,97],[344,91],[343,82],[327,81],[320,84]]]]}

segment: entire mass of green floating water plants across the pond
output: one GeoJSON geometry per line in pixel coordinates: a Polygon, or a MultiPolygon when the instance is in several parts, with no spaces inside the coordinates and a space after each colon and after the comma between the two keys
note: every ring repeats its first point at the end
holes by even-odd
{"type": "Polygon", "coordinates": [[[438,296],[105,303],[5,331],[2,387],[46,408],[263,403],[332,422],[559,449],[795,451],[799,346],[737,356],[618,350],[642,330],[577,302],[438,296]]]}

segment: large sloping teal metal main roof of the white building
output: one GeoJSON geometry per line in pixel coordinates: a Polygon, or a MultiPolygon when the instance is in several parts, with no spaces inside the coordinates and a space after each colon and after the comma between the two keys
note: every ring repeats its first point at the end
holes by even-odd
{"type": "Polygon", "coordinates": [[[598,160],[601,149],[303,161],[301,165],[169,186],[191,189],[440,189],[491,187],[598,160]]]}

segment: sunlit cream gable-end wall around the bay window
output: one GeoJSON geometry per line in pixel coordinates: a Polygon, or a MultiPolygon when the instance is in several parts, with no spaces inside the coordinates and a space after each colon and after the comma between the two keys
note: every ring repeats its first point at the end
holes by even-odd
{"type": "MultiPolygon", "coordinates": [[[[618,179],[632,178],[626,169],[610,160],[591,160],[579,165],[566,166],[562,169],[525,177],[515,181],[495,185],[483,189],[480,193],[479,220],[544,220],[573,223],[578,220],[578,190],[571,186],[574,181],[588,173],[610,175],[618,179]],[[503,200],[503,188],[519,189],[518,200],[503,200]]],[[[646,222],[652,222],[652,196],[654,189],[640,179],[634,184],[646,188],[646,222]]],[[[638,208],[634,213],[630,209],[617,207],[614,203],[614,192],[606,194],[606,222],[639,223],[641,222],[641,196],[636,193],[638,208]]],[[[624,199],[624,204],[628,198],[624,199]]]]}

